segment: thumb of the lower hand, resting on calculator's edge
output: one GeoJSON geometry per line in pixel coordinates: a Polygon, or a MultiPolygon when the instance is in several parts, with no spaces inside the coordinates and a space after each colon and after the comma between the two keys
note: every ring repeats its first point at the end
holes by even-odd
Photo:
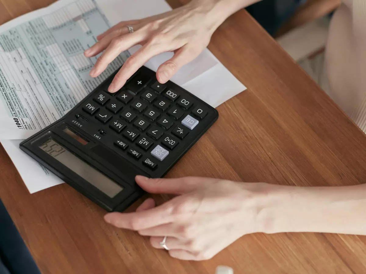
{"type": "Polygon", "coordinates": [[[147,178],[141,175],[135,177],[136,183],[145,191],[154,194],[184,194],[212,184],[217,179],[204,177],[183,178],[147,178]]]}

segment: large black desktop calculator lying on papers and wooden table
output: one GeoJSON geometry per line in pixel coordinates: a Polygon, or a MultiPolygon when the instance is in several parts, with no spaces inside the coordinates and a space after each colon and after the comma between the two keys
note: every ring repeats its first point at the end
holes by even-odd
{"type": "Polygon", "coordinates": [[[172,81],[159,83],[145,66],[111,94],[115,73],[20,144],[107,211],[124,210],[141,197],[135,175],[163,177],[219,116],[172,81]]]}

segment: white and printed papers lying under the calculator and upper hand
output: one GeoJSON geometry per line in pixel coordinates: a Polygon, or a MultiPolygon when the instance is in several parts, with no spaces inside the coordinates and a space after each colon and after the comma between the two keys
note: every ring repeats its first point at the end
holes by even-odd
{"type": "MultiPolygon", "coordinates": [[[[170,9],[164,0],[59,0],[0,26],[0,140],[30,193],[62,181],[22,152],[19,142],[61,118],[137,47],[95,79],[89,71],[98,56],[86,58],[83,51],[122,20],[170,9]]],[[[171,56],[160,54],[145,65],[156,71],[171,56]]],[[[213,107],[246,89],[207,49],[172,81],[213,107]]]]}

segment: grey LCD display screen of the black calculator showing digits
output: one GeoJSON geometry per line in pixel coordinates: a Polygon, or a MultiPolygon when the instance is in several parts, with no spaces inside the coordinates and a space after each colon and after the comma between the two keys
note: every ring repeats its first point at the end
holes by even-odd
{"type": "Polygon", "coordinates": [[[40,145],[40,148],[109,197],[113,198],[123,190],[121,186],[76,157],[52,138],[40,145]]]}

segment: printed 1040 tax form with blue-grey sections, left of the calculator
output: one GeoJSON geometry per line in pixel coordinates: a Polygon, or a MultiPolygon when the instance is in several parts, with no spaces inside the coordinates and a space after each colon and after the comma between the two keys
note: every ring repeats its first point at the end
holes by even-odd
{"type": "Polygon", "coordinates": [[[0,139],[25,139],[61,118],[128,57],[97,78],[83,51],[109,28],[93,0],[76,1],[0,33],[0,139]]]}

